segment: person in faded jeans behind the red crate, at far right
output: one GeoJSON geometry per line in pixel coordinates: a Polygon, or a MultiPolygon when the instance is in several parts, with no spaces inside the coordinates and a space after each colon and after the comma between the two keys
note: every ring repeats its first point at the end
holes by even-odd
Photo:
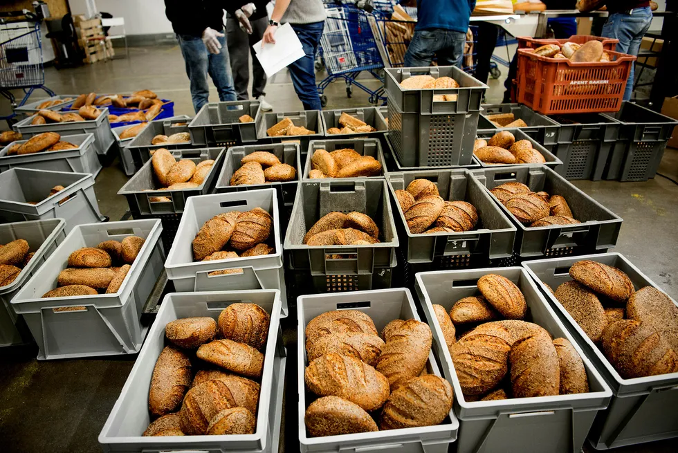
{"type": "MultiPolygon", "coordinates": [[[[648,0],[583,0],[577,5],[581,12],[588,12],[607,6],[607,22],[603,26],[603,37],[619,39],[619,44],[614,49],[616,52],[638,56],[641,49],[643,36],[648,33],[652,24],[652,9],[648,0]]],[[[634,66],[626,82],[624,100],[631,100],[634,83],[634,66]]]]}

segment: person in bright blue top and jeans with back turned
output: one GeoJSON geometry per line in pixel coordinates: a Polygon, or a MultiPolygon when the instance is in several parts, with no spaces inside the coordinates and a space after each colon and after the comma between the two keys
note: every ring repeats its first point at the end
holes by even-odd
{"type": "Polygon", "coordinates": [[[405,67],[438,66],[461,68],[466,30],[475,0],[416,0],[416,26],[407,46],[405,67]]]}

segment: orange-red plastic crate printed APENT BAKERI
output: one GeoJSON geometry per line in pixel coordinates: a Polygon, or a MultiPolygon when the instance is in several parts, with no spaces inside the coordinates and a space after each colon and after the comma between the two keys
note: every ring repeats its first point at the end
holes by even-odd
{"type": "Polygon", "coordinates": [[[574,63],[518,49],[518,102],[544,115],[618,111],[636,57],[607,53],[610,62],[574,63]]]}

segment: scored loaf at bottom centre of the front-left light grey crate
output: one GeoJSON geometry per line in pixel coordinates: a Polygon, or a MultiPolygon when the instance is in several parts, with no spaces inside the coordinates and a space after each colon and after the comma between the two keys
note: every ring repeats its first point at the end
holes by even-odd
{"type": "Polygon", "coordinates": [[[190,389],[181,405],[181,430],[199,436],[207,432],[210,420],[223,409],[235,407],[235,399],[226,384],[208,380],[190,389]]]}

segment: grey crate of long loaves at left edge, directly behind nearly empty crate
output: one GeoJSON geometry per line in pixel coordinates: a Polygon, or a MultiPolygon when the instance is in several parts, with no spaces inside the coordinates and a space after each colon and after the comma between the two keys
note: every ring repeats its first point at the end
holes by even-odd
{"type": "Polygon", "coordinates": [[[90,173],[96,178],[101,171],[101,163],[94,147],[94,136],[91,133],[81,133],[75,136],[62,136],[61,140],[73,143],[77,149],[8,156],[9,147],[14,143],[24,143],[27,140],[10,143],[0,151],[0,172],[21,167],[53,172],[90,173]]]}

